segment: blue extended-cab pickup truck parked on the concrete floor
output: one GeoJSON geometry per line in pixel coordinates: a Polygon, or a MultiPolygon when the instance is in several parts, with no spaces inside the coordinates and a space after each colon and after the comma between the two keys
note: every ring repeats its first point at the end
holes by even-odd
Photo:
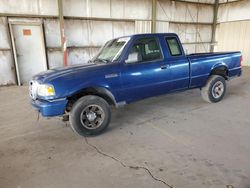
{"type": "Polygon", "coordinates": [[[241,75],[241,61],[240,52],[185,55],[174,33],[138,34],[108,41],[88,63],[34,76],[29,90],[43,116],[68,117],[76,133],[97,135],[111,106],[194,88],[219,102],[226,81],[241,75]]]}

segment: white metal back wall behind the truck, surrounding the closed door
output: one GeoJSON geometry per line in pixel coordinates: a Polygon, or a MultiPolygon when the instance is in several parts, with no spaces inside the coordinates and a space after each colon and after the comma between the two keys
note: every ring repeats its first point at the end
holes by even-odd
{"type": "MultiPolygon", "coordinates": [[[[208,52],[214,0],[188,1],[157,0],[156,31],[179,34],[188,53],[208,52]]],[[[151,0],[63,0],[63,9],[69,65],[113,37],[151,32],[151,0]]],[[[41,20],[49,68],[63,66],[58,14],[57,0],[0,0],[0,85],[16,83],[9,19],[41,20]]]]}

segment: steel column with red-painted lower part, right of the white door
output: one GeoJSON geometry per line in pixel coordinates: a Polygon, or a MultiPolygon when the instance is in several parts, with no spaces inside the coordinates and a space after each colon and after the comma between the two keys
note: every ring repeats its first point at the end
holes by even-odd
{"type": "Polygon", "coordinates": [[[65,37],[65,29],[64,29],[64,17],[63,17],[63,3],[62,0],[58,0],[58,12],[59,12],[59,21],[60,21],[60,33],[61,33],[61,48],[63,53],[63,64],[64,66],[68,66],[68,53],[67,53],[67,44],[65,37]]]}

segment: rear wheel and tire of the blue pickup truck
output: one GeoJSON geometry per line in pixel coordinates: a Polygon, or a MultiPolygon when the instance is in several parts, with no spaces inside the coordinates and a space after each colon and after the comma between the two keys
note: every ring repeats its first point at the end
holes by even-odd
{"type": "Polygon", "coordinates": [[[207,84],[201,88],[202,98],[209,103],[216,103],[223,99],[226,93],[225,78],[219,75],[209,77],[207,84]]]}

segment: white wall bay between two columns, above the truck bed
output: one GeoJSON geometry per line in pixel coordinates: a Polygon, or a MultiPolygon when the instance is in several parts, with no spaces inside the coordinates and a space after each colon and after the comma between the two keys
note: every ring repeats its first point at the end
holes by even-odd
{"type": "MultiPolygon", "coordinates": [[[[209,3],[209,1],[203,2],[209,3]]],[[[186,52],[209,51],[213,6],[159,0],[157,2],[157,19],[169,21],[168,31],[179,35],[186,52]]]]}

